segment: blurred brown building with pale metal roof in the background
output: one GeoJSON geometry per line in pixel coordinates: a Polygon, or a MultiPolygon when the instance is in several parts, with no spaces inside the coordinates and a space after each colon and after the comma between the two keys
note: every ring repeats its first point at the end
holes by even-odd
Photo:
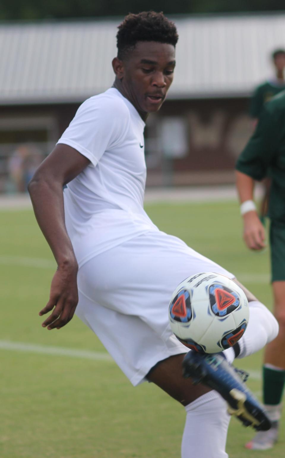
{"type": "MultiPolygon", "coordinates": [[[[274,76],[272,50],[285,47],[285,12],[172,19],[177,67],[147,120],[147,184],[232,183],[253,130],[249,96],[274,76]]],[[[0,23],[0,192],[24,189],[11,179],[20,156],[29,149],[27,179],[81,102],[112,85],[120,21],[0,23]]]]}

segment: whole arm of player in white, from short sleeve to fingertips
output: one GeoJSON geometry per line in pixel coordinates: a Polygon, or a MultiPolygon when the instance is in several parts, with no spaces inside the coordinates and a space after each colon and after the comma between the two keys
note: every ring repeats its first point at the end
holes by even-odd
{"type": "Polygon", "coordinates": [[[38,224],[58,265],[49,301],[40,311],[52,311],[43,322],[48,329],[65,326],[78,301],[78,266],[65,228],[63,186],[87,166],[96,167],[105,151],[122,142],[129,116],[121,98],[101,94],[87,99],[28,186],[38,224]]]}

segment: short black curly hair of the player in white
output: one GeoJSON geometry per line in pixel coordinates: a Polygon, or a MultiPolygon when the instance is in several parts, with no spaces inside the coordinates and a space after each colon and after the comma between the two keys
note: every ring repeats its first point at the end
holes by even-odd
{"type": "Polygon", "coordinates": [[[125,59],[128,52],[134,49],[139,41],[157,41],[172,44],[175,47],[178,41],[176,26],[162,12],[129,13],[118,26],[118,59],[125,59]]]}

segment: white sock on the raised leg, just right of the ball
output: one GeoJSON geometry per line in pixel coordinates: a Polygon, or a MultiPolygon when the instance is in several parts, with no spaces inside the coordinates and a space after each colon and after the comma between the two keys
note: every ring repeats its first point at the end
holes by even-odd
{"type": "Polygon", "coordinates": [[[277,337],[279,326],[272,313],[258,300],[249,303],[249,321],[247,329],[238,341],[240,354],[244,358],[262,349],[277,337]]]}

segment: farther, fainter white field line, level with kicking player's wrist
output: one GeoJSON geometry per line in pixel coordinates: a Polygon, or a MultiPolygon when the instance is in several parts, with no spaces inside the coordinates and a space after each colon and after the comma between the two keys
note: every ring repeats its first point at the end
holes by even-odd
{"type": "MultiPolygon", "coordinates": [[[[0,256],[0,264],[5,266],[38,267],[42,269],[55,269],[56,263],[50,259],[31,258],[27,256],[0,256]]],[[[242,283],[268,284],[268,273],[235,273],[242,283]]]]}

